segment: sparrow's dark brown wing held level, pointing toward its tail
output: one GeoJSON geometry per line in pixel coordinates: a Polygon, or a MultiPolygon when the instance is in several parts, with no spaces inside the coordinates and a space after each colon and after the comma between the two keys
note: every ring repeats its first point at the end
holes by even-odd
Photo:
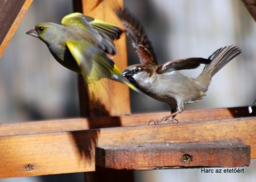
{"type": "Polygon", "coordinates": [[[210,59],[204,59],[201,57],[190,57],[187,59],[174,60],[159,65],[156,72],[160,74],[172,70],[195,69],[199,67],[200,64],[209,64],[211,61],[212,60],[210,59]]]}

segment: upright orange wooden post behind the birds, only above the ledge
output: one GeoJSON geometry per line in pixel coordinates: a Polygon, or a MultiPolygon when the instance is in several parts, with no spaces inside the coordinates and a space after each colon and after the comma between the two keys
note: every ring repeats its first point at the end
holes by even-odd
{"type": "MultiPolygon", "coordinates": [[[[118,0],[120,6],[123,1],[118,0]]],[[[85,1],[73,0],[74,11],[80,11],[85,15],[92,16],[99,20],[121,26],[117,16],[113,12],[112,1],[85,1]]],[[[127,67],[127,54],[125,35],[115,41],[117,54],[113,57],[113,61],[117,67],[123,71],[127,67]]],[[[123,115],[130,114],[130,98],[129,88],[119,82],[101,79],[97,81],[99,85],[107,85],[109,88],[100,90],[101,93],[92,97],[91,91],[86,91],[86,86],[82,78],[79,78],[79,103],[81,115],[84,117],[99,117],[106,115],[123,115]],[[122,92],[120,92],[122,90],[122,92]],[[89,96],[88,96],[89,95],[89,96]]],[[[90,86],[89,86],[89,90],[90,86]]]]}

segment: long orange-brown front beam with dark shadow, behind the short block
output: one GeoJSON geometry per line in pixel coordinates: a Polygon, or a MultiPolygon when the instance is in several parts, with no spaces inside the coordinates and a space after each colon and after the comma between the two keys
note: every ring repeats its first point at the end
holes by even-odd
{"type": "Polygon", "coordinates": [[[256,118],[0,137],[0,177],[95,171],[95,146],[234,142],[256,158],[256,118]],[[28,170],[33,169],[33,170],[28,170]]]}

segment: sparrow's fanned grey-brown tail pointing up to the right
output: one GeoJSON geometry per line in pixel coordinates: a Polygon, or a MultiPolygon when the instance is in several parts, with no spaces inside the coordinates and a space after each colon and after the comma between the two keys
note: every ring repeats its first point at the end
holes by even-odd
{"type": "Polygon", "coordinates": [[[238,46],[230,45],[219,48],[215,51],[209,59],[212,60],[210,64],[206,64],[202,73],[196,78],[198,85],[201,86],[203,92],[206,92],[212,77],[223,68],[234,57],[241,54],[242,51],[238,46]]]}

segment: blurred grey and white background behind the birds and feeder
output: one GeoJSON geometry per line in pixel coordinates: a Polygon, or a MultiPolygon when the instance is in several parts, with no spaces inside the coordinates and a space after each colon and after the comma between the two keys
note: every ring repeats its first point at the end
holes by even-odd
{"type": "MultiPolygon", "coordinates": [[[[184,57],[209,57],[235,44],[243,53],[213,77],[204,100],[185,109],[253,105],[256,100],[256,23],[241,1],[124,0],[148,32],[159,63],[184,57]]],[[[25,33],[41,22],[60,23],[73,10],[71,0],[34,0],[0,59],[0,124],[77,117],[76,73],[55,61],[40,40],[25,33]]],[[[127,41],[129,64],[138,63],[127,41]]],[[[196,77],[202,68],[182,71],[196,77]]],[[[167,105],[131,92],[136,112],[169,110],[167,105]]],[[[201,169],[137,171],[137,181],[252,181],[256,162],[242,174],[203,174],[201,169]]],[[[83,181],[83,173],[8,178],[3,181],[83,181]]]]}

